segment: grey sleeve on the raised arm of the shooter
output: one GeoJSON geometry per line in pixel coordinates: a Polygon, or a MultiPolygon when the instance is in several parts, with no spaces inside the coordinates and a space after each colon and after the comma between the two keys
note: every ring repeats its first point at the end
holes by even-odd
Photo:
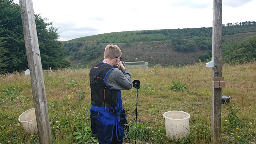
{"type": "Polygon", "coordinates": [[[113,69],[110,71],[105,79],[109,88],[115,90],[129,90],[132,88],[132,81],[130,72],[128,70],[113,69]]]}

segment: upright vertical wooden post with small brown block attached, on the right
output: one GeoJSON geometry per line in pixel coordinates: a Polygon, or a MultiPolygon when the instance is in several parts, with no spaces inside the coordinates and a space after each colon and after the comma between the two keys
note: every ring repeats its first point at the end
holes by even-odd
{"type": "Polygon", "coordinates": [[[222,89],[214,88],[214,78],[222,77],[222,0],[213,0],[212,57],[211,133],[213,143],[221,143],[222,89]]]}

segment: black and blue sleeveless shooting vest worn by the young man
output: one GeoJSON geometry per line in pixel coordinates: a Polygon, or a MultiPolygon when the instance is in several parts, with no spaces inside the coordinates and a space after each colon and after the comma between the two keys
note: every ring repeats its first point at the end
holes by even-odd
{"type": "Polygon", "coordinates": [[[91,131],[104,144],[112,141],[114,128],[118,141],[125,136],[121,121],[126,120],[126,114],[122,107],[121,91],[109,88],[105,82],[107,74],[113,69],[113,66],[100,62],[91,68],[89,74],[91,131]]]}

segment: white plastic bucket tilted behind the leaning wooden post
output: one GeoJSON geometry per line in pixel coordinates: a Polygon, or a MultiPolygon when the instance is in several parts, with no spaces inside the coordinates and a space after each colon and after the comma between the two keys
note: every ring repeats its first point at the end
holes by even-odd
{"type": "Polygon", "coordinates": [[[29,133],[37,133],[38,132],[34,108],[23,112],[18,117],[18,121],[20,123],[22,123],[26,132],[29,132],[29,133]]]}

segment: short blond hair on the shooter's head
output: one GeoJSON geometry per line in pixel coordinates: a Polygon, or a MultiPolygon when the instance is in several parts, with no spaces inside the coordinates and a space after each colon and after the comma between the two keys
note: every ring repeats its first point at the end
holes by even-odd
{"type": "Polygon", "coordinates": [[[122,51],[118,46],[113,44],[106,46],[104,59],[106,58],[114,59],[115,57],[121,57],[121,56],[122,56],[122,51]]]}

